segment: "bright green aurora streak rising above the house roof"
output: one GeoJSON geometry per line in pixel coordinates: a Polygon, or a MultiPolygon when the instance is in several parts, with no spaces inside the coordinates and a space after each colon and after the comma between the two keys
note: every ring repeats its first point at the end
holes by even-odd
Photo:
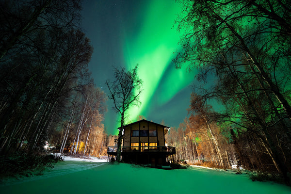
{"type": "Polygon", "coordinates": [[[167,103],[193,81],[193,74],[185,69],[175,69],[172,63],[175,51],[179,49],[180,34],[174,22],[180,11],[174,1],[148,1],[139,31],[134,36],[125,34],[123,51],[126,67],[131,69],[139,64],[138,74],[144,82],[140,96],[142,104],[130,108],[129,122],[136,121],[138,115],[147,117],[150,103],[167,103]],[[159,96],[153,99],[158,88],[159,96]]]}

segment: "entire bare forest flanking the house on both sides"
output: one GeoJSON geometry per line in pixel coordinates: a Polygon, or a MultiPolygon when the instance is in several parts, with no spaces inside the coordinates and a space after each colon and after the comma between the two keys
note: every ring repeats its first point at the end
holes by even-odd
{"type": "MultiPolygon", "coordinates": [[[[176,160],[275,173],[290,185],[291,1],[177,3],[181,49],[173,63],[197,71],[199,82],[189,117],[166,136],[176,160]]],[[[81,0],[0,2],[2,167],[49,150],[106,155],[117,136],[103,125],[108,97],[89,71],[92,53],[81,0]]]]}

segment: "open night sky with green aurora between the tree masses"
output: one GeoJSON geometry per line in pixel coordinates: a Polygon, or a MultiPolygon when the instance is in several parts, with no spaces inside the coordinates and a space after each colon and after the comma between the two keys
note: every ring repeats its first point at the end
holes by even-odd
{"type": "MultiPolygon", "coordinates": [[[[180,7],[174,0],[87,0],[83,4],[82,28],[94,47],[89,69],[97,87],[108,93],[106,80],[113,81],[113,66],[127,69],[139,64],[143,80],[140,107],[129,110],[128,123],[138,115],[147,120],[178,127],[188,116],[194,72],[175,69],[181,34],[175,19],[180,7]]],[[[107,102],[107,133],[116,134],[119,116],[107,102]]]]}

